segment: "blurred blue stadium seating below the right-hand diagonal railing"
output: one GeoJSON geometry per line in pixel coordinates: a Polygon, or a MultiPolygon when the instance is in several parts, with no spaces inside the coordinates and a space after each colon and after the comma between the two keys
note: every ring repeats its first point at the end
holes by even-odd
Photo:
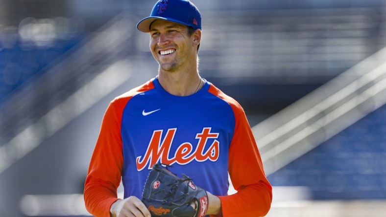
{"type": "Polygon", "coordinates": [[[268,176],[312,199],[386,199],[386,105],[268,176]]]}

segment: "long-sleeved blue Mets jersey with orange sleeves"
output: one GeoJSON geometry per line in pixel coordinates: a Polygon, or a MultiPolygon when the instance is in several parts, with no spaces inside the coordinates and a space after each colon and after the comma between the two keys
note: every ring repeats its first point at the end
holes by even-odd
{"type": "Polygon", "coordinates": [[[270,208],[272,188],[245,113],[210,82],[175,96],[154,78],[110,103],[85,182],[89,212],[109,217],[121,181],[124,198],[141,198],[155,163],[217,195],[223,216],[264,216],[270,208]]]}

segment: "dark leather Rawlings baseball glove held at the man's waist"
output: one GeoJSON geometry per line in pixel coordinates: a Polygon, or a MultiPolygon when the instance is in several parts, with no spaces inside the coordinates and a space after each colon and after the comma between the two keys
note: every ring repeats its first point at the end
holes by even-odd
{"type": "Polygon", "coordinates": [[[142,202],[151,216],[204,217],[208,209],[206,191],[196,186],[185,174],[182,174],[183,178],[173,174],[168,167],[155,164],[147,176],[142,202]],[[190,205],[193,201],[196,209],[190,205]]]}

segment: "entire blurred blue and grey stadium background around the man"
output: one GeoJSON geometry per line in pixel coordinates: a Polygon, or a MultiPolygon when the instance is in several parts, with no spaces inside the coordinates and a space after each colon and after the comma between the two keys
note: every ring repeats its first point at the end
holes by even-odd
{"type": "MultiPolygon", "coordinates": [[[[192,0],[200,73],[244,107],[269,217],[386,213],[386,1],[192,0]]],[[[0,217],[87,216],[102,115],[157,73],[154,0],[0,0],[0,217]]]]}

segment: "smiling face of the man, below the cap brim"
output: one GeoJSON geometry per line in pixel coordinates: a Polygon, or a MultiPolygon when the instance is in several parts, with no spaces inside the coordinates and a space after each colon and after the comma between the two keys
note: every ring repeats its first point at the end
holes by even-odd
{"type": "Polygon", "coordinates": [[[164,71],[177,71],[189,67],[194,50],[194,34],[188,26],[176,22],[156,20],[150,25],[150,50],[164,71]]]}

